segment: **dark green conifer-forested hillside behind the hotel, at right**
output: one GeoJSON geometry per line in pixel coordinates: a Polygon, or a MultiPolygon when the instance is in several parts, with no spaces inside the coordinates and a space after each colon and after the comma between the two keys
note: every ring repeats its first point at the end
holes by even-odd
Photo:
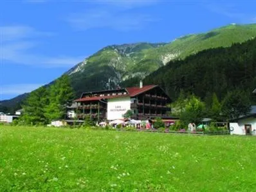
{"type": "Polygon", "coordinates": [[[256,39],[170,61],[147,76],[144,83],[160,84],[174,100],[181,90],[201,99],[212,97],[214,92],[223,99],[236,88],[252,95],[256,87],[256,39]]]}

